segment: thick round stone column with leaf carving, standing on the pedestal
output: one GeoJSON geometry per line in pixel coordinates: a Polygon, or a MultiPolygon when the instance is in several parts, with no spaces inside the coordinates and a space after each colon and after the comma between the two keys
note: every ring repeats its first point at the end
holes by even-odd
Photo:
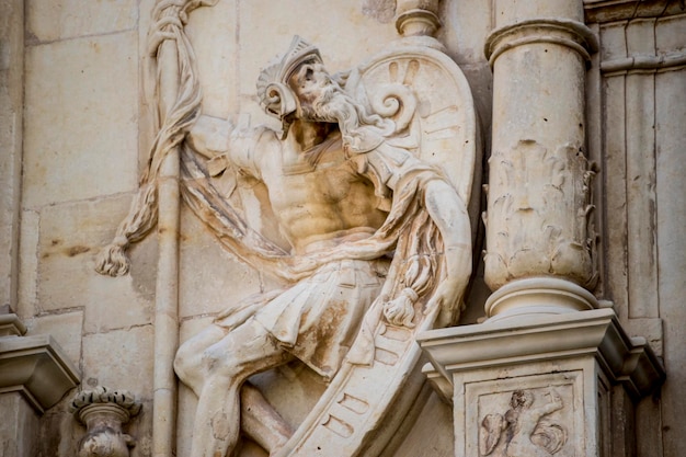
{"type": "Polygon", "coordinates": [[[596,38],[581,1],[495,4],[485,281],[490,319],[597,307],[584,80],[596,38]]]}

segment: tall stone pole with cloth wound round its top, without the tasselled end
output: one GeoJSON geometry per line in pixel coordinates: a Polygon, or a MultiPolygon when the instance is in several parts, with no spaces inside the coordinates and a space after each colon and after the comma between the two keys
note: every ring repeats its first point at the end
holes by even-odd
{"type": "Polygon", "coordinates": [[[184,33],[191,10],[214,0],[158,0],[150,50],[157,56],[158,115],[162,126],[150,170],[157,172],[159,258],[155,310],[152,455],[171,457],[176,425],[176,378],[173,361],[179,346],[179,214],[180,153],[184,127],[199,113],[201,94],[194,56],[184,33]]]}

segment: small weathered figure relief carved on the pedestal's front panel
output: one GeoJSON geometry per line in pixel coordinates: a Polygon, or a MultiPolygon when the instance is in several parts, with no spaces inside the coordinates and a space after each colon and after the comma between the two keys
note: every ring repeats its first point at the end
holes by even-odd
{"type": "Polygon", "coordinates": [[[562,449],[567,443],[567,430],[544,419],[564,405],[554,389],[547,392],[550,401],[534,407],[530,390],[512,393],[505,415],[488,414],[481,421],[479,455],[493,457],[545,457],[562,449]]]}

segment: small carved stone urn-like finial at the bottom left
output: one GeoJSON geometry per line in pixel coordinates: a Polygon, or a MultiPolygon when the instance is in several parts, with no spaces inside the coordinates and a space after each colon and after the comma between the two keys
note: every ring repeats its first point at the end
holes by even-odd
{"type": "Polygon", "coordinates": [[[122,431],[140,412],[140,402],[125,390],[94,390],[79,392],[69,411],[87,426],[79,441],[77,457],[128,457],[135,441],[122,431]]]}

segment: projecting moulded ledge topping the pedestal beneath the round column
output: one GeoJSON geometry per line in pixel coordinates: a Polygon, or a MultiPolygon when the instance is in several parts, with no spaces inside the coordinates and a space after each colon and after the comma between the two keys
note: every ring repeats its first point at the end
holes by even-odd
{"type": "Polygon", "coordinates": [[[651,393],[665,378],[645,340],[629,338],[611,309],[432,330],[418,341],[434,367],[424,372],[444,398],[453,396],[454,373],[583,355],[594,355],[606,376],[634,399],[651,393]],[[438,373],[448,382],[436,382],[438,373]]]}

